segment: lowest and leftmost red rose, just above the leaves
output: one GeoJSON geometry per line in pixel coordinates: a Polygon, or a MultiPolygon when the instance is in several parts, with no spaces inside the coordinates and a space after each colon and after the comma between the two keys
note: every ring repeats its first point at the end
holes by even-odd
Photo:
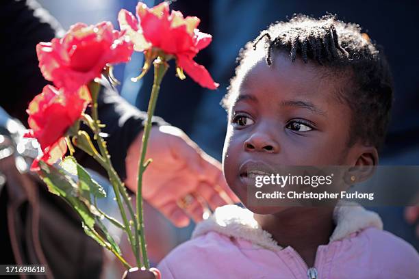
{"type": "Polygon", "coordinates": [[[31,170],[36,170],[38,161],[53,164],[67,151],[65,134],[75,124],[90,103],[90,93],[86,86],[77,92],[58,90],[46,85],[42,93],[29,103],[27,120],[29,127],[25,137],[35,137],[42,149],[42,157],[36,159],[31,170]]]}

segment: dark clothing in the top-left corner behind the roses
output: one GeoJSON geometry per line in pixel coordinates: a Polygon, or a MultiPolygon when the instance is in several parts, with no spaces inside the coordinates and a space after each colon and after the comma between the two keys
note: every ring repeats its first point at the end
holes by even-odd
{"type": "Polygon", "coordinates": [[[57,21],[35,1],[0,1],[0,105],[25,125],[27,105],[47,85],[38,68],[36,44],[49,42],[59,30],[57,21]]]}

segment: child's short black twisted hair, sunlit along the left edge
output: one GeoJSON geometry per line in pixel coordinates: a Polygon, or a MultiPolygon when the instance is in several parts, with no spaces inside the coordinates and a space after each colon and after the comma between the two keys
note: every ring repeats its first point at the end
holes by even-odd
{"type": "Polygon", "coordinates": [[[315,62],[328,76],[350,77],[338,100],[351,108],[348,146],[361,140],[380,148],[390,121],[393,81],[381,47],[361,33],[361,27],[338,21],[333,15],[312,18],[294,15],[290,21],[273,23],[240,51],[236,75],[231,79],[223,106],[229,110],[246,71],[262,57],[273,63],[272,55],[288,53],[292,62],[315,62]],[[349,75],[348,75],[349,74],[349,75]]]}

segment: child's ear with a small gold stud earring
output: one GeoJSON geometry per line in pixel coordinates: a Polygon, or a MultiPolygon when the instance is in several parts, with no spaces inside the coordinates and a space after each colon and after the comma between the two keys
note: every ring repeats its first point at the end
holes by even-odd
{"type": "Polygon", "coordinates": [[[377,148],[374,146],[359,146],[355,164],[348,170],[348,180],[351,183],[361,183],[368,180],[375,172],[379,163],[377,148]]]}

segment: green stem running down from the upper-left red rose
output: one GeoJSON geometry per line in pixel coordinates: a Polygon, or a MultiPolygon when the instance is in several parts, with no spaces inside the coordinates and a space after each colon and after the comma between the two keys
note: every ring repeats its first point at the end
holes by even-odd
{"type": "MultiPolygon", "coordinates": [[[[118,174],[116,174],[116,171],[112,167],[112,163],[110,161],[110,155],[109,155],[109,153],[107,152],[107,149],[106,149],[106,142],[99,135],[101,133],[101,127],[100,127],[99,116],[98,116],[98,111],[97,111],[97,96],[99,94],[99,89],[100,89],[99,83],[91,82],[89,84],[90,94],[92,95],[92,118],[93,118],[94,127],[95,127],[95,129],[93,131],[94,132],[94,139],[97,140],[97,144],[99,146],[99,150],[100,150],[101,155],[102,155],[101,159],[104,160],[104,162],[102,162],[101,165],[107,171],[107,174],[110,178],[110,182],[111,182],[112,187],[114,189],[116,202],[118,203],[118,208],[119,208],[119,211],[120,211],[120,215],[123,219],[123,223],[124,223],[124,226],[125,226],[125,232],[127,232],[132,252],[136,256],[137,265],[140,266],[141,262],[140,262],[140,257],[138,256],[138,245],[136,243],[134,243],[133,235],[131,233],[131,228],[129,226],[129,221],[127,219],[127,214],[125,213],[125,209],[123,207],[123,203],[122,203],[122,200],[120,198],[120,187],[122,187],[122,182],[120,181],[120,179],[118,177],[118,174]]],[[[129,202],[129,199],[127,197],[125,197],[124,194],[123,194],[123,196],[124,196],[123,197],[124,201],[127,204],[127,207],[129,208],[131,206],[131,203],[129,202]]],[[[132,211],[132,207],[131,207],[130,213],[132,213],[131,217],[134,221],[134,228],[137,228],[138,225],[136,224],[136,216],[134,215],[134,211],[132,211]]]]}

